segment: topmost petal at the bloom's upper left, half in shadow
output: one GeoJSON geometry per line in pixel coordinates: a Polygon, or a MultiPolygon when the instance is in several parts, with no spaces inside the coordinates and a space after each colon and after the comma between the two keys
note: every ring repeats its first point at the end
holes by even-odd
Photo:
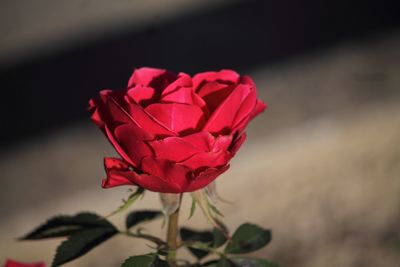
{"type": "Polygon", "coordinates": [[[128,88],[134,85],[150,86],[161,92],[170,82],[176,79],[176,75],[164,70],[155,68],[136,69],[128,82],[128,88]]]}

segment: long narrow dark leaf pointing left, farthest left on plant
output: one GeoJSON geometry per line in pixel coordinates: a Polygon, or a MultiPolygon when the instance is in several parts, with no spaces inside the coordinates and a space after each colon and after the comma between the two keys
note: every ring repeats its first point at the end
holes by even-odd
{"type": "Polygon", "coordinates": [[[93,213],[79,213],[75,216],[61,215],[49,219],[38,228],[21,237],[21,240],[37,240],[69,236],[85,228],[113,227],[107,220],[93,213]]]}

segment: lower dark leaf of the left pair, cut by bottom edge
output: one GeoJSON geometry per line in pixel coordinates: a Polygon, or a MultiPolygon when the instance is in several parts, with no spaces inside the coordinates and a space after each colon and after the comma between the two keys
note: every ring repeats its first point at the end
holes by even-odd
{"type": "Polygon", "coordinates": [[[117,233],[112,227],[89,228],[71,235],[67,240],[58,246],[52,267],[60,266],[72,261],[117,233]]]}

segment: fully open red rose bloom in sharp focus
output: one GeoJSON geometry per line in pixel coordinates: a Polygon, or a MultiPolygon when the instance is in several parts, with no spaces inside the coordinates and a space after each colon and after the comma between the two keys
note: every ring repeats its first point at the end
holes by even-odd
{"type": "Polygon", "coordinates": [[[122,158],[104,159],[103,187],[182,193],[228,169],[246,139],[244,128],[265,104],[252,79],[232,70],[190,77],[140,68],[127,89],[103,90],[89,108],[122,158]]]}

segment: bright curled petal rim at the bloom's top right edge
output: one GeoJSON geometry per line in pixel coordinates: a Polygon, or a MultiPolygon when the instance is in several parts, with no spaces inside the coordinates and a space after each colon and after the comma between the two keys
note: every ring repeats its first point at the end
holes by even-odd
{"type": "Polygon", "coordinates": [[[221,82],[226,84],[236,84],[239,81],[239,74],[233,70],[221,70],[218,72],[208,71],[196,74],[193,78],[193,88],[197,92],[204,82],[221,82]]]}

